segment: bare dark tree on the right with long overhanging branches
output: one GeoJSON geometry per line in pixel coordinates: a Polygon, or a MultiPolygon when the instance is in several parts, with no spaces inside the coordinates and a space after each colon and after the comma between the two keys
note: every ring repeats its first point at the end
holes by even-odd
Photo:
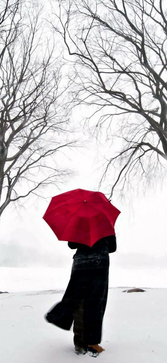
{"type": "Polygon", "coordinates": [[[73,57],[76,103],[95,105],[97,130],[121,138],[101,179],[112,167],[110,197],[116,185],[125,192],[154,179],[167,160],[166,1],[62,0],[54,15],[73,57]]]}

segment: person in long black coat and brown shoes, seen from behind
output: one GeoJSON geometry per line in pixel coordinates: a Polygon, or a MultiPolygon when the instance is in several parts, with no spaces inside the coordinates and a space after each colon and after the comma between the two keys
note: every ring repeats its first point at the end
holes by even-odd
{"type": "Polygon", "coordinates": [[[71,277],[62,301],[47,314],[47,321],[70,330],[74,319],[76,354],[96,357],[104,351],[99,345],[108,296],[109,253],[116,251],[116,236],[98,240],[92,247],[68,242],[77,249],[71,277]]]}

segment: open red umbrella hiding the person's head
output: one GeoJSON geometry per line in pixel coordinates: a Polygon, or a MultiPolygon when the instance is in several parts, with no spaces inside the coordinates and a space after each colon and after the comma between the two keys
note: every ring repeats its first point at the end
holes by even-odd
{"type": "Polygon", "coordinates": [[[43,219],[58,240],[92,247],[100,238],[115,234],[119,214],[103,193],[75,189],[53,197],[43,219]]]}

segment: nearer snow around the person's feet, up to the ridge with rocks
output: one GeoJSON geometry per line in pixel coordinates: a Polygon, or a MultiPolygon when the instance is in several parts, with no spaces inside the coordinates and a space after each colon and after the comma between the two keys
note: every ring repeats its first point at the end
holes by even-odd
{"type": "MultiPolygon", "coordinates": [[[[167,289],[123,293],[109,289],[104,317],[105,348],[96,362],[167,362],[167,289]]],[[[74,353],[73,333],[45,321],[43,315],[63,291],[28,291],[0,295],[1,363],[92,362],[74,353]]],[[[94,362],[94,360],[93,360],[94,362]]]]}

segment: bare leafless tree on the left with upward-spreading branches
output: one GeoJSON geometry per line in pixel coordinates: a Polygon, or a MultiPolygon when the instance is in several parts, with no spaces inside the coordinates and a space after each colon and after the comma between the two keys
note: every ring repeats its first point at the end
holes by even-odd
{"type": "Polygon", "coordinates": [[[67,137],[69,84],[45,30],[37,2],[1,0],[0,216],[9,203],[69,172],[57,166],[60,148],[75,144],[67,137]]]}

